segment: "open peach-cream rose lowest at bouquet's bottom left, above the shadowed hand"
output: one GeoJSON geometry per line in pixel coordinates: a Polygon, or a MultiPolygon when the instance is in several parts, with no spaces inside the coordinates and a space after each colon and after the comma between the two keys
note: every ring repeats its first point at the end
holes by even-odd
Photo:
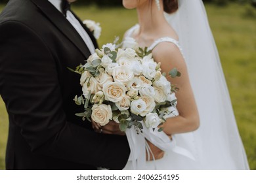
{"type": "Polygon", "coordinates": [[[91,118],[100,125],[106,125],[112,119],[112,109],[110,105],[95,104],[92,108],[91,118]]]}

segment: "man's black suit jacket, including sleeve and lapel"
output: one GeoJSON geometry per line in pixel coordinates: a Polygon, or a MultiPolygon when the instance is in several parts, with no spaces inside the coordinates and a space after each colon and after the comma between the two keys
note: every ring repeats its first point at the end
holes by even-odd
{"type": "Polygon", "coordinates": [[[130,153],[126,137],[95,133],[74,115],[83,112],[73,101],[81,86],[79,75],[67,68],[89,55],[74,27],[49,1],[9,1],[0,16],[0,93],[9,113],[7,169],[125,166],[130,153]]]}

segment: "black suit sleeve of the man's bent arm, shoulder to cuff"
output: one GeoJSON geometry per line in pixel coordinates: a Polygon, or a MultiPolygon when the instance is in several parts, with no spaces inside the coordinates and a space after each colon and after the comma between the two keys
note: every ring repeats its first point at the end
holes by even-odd
{"type": "Polygon", "coordinates": [[[130,153],[126,137],[66,121],[56,63],[30,27],[1,24],[0,45],[0,93],[34,153],[110,169],[125,166],[130,153]]]}

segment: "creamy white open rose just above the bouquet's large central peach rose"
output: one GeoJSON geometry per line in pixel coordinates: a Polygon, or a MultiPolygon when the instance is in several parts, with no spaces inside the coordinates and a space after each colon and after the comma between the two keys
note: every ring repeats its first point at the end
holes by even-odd
{"type": "Polygon", "coordinates": [[[133,79],[133,71],[129,67],[120,66],[113,69],[113,78],[116,82],[127,84],[133,79]]]}

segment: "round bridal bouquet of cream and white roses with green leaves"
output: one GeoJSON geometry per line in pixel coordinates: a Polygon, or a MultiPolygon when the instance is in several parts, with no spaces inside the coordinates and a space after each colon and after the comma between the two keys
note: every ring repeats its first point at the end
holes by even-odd
{"type": "MultiPolygon", "coordinates": [[[[114,120],[121,131],[135,127],[137,133],[142,132],[142,123],[156,129],[165,116],[175,116],[177,105],[177,88],[161,73],[160,65],[133,39],[127,39],[122,48],[108,43],[96,49],[87,63],[74,71],[81,75],[83,91],[74,101],[85,108],[75,115],[100,125],[114,120]]],[[[169,75],[181,73],[173,69],[169,75]]]]}

